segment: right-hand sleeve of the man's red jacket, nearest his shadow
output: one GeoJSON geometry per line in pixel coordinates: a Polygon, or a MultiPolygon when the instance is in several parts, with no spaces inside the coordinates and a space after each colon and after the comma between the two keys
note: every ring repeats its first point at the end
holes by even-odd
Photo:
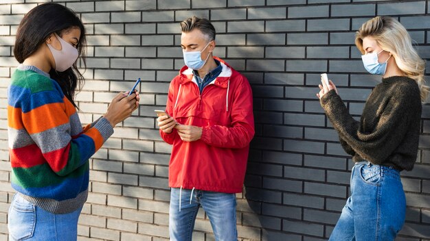
{"type": "Polygon", "coordinates": [[[214,147],[240,149],[251,142],[254,130],[252,90],[247,79],[234,92],[231,106],[231,126],[212,125],[203,127],[201,140],[214,147]]]}

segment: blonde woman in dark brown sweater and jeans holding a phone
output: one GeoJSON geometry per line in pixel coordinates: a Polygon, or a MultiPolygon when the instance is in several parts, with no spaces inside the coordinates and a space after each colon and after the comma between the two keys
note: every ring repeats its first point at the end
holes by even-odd
{"type": "Polygon", "coordinates": [[[321,106],[355,162],[351,196],[330,240],[394,240],[405,223],[400,171],[414,167],[418,151],[425,62],[405,27],[389,16],[365,22],[355,38],[366,70],[382,75],[355,121],[332,81],[321,81],[321,106]]]}

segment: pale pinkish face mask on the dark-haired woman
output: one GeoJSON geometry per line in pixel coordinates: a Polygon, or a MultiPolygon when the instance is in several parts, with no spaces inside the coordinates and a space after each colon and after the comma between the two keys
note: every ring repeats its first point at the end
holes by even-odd
{"type": "Polygon", "coordinates": [[[55,36],[58,41],[60,41],[61,50],[54,49],[54,47],[48,43],[47,46],[49,47],[52,56],[54,56],[55,70],[58,72],[63,72],[70,68],[76,62],[76,60],[78,60],[79,53],[78,49],[63,40],[63,38],[60,38],[60,36],[57,34],[55,34],[55,36]]]}

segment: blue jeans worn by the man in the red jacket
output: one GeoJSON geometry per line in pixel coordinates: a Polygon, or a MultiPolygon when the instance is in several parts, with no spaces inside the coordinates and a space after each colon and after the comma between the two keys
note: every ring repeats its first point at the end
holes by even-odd
{"type": "Polygon", "coordinates": [[[216,241],[238,240],[235,194],[189,189],[180,190],[179,188],[172,188],[170,192],[170,240],[192,240],[192,230],[194,229],[194,222],[200,205],[210,220],[216,241]],[[181,199],[179,199],[179,196],[181,196],[181,199]]]}

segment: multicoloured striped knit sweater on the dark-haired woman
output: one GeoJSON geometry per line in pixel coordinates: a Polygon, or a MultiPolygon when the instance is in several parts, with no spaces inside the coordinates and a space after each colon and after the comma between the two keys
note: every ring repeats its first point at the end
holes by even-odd
{"type": "Polygon", "coordinates": [[[105,118],[82,128],[76,108],[49,75],[20,65],[8,89],[12,188],[54,214],[87,200],[88,159],[113,134],[105,118]]]}

